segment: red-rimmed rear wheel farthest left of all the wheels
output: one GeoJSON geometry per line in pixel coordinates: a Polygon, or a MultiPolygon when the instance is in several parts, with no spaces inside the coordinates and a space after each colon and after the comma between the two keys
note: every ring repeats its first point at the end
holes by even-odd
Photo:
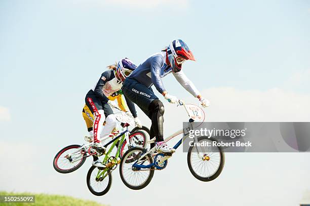
{"type": "Polygon", "coordinates": [[[78,170],[85,162],[85,151],[80,150],[81,145],[73,144],[61,149],[53,160],[54,169],[62,174],[78,170]]]}

